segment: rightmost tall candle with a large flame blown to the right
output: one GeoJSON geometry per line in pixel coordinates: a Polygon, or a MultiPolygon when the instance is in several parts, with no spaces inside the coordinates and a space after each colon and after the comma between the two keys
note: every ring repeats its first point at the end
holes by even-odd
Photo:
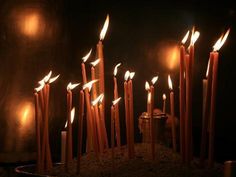
{"type": "Polygon", "coordinates": [[[220,37],[220,39],[213,46],[213,68],[212,68],[212,87],[211,87],[211,112],[209,121],[209,156],[208,165],[213,166],[214,160],[214,137],[215,137],[215,105],[216,105],[216,92],[217,92],[217,72],[218,72],[218,56],[217,51],[220,50],[229,35],[230,29],[220,37]]]}

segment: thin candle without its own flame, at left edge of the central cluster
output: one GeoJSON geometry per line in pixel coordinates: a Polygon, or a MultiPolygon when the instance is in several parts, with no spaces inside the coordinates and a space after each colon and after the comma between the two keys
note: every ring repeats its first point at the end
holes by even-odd
{"type": "Polygon", "coordinates": [[[83,116],[84,116],[84,91],[80,90],[79,97],[79,128],[78,128],[78,156],[77,156],[77,174],[80,174],[80,161],[82,155],[83,138],[83,116]]]}

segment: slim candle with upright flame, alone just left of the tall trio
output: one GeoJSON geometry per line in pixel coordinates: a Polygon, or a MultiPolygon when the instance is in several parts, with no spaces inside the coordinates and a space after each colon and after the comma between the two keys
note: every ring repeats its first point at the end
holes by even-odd
{"type": "Polygon", "coordinates": [[[172,81],[170,75],[168,75],[168,84],[170,89],[170,115],[171,115],[171,127],[172,127],[172,146],[174,152],[176,152],[176,128],[175,128],[175,108],[174,108],[174,91],[172,87],[172,81]]]}

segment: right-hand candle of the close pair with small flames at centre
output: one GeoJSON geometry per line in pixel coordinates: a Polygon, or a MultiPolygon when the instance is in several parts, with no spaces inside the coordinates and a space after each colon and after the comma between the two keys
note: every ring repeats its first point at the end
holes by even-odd
{"type": "Polygon", "coordinates": [[[130,118],[130,157],[134,158],[134,106],[133,106],[133,82],[132,79],[135,73],[130,72],[128,81],[128,95],[129,95],[129,118],[130,118]]]}

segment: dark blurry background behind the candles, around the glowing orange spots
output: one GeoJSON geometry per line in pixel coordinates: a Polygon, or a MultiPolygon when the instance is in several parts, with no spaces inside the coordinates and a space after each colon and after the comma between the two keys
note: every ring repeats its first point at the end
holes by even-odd
{"type": "MultiPolygon", "coordinates": [[[[33,103],[33,88],[37,81],[52,70],[61,74],[51,88],[50,136],[53,158],[59,160],[60,131],[66,120],[66,86],[81,82],[81,58],[92,47],[95,51],[100,30],[110,15],[110,25],[104,40],[106,77],[106,121],[109,125],[109,105],[112,101],[112,73],[118,71],[119,92],[123,97],[123,76],[126,70],[134,77],[135,139],[140,141],[138,116],[146,110],[146,80],[158,74],[156,107],[162,107],[162,93],[168,95],[167,75],[173,79],[176,115],[178,112],[178,66],[166,65],[163,50],[176,46],[192,26],[201,35],[196,42],[193,98],[194,153],[199,153],[202,79],[205,76],[209,52],[221,33],[231,28],[220,50],[216,104],[216,160],[236,159],[235,140],[235,20],[236,9],[230,2],[156,2],[156,1],[77,1],[77,0],[1,0],[0,1],[0,152],[33,152],[34,123],[22,140],[19,120],[13,114],[21,100],[33,103]],[[40,15],[39,35],[29,36],[20,31],[21,14],[40,15]],[[8,133],[7,133],[8,132],[8,133]],[[15,144],[24,146],[17,150],[15,144]]],[[[95,59],[95,52],[90,61],[95,59]]],[[[89,65],[87,65],[89,70],[89,65]]],[[[78,89],[74,91],[74,105],[78,105],[78,89]]],[[[168,100],[168,97],[167,97],[168,100]]],[[[167,101],[167,110],[169,103],[167,101]]],[[[122,142],[125,143],[124,103],[121,107],[122,142]]],[[[74,123],[77,134],[77,122],[74,123]]],[[[75,138],[75,143],[77,140],[75,138]]],[[[75,150],[76,153],[76,150],[75,150]]]]}

